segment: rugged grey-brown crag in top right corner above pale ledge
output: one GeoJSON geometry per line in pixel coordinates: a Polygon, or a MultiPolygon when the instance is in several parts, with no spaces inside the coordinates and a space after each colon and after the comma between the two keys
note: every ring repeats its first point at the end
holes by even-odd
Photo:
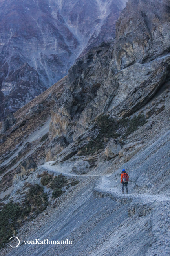
{"type": "Polygon", "coordinates": [[[116,24],[111,70],[149,63],[170,53],[168,0],[130,0],[116,24]]]}

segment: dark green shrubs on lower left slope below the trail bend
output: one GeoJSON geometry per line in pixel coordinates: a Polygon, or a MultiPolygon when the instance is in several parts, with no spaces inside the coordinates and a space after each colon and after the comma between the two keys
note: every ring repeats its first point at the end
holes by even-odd
{"type": "MultiPolygon", "coordinates": [[[[43,172],[39,175],[40,177],[42,185],[49,184],[49,187],[53,189],[53,198],[57,198],[64,193],[62,191],[64,186],[75,186],[78,183],[77,180],[68,179],[62,174],[54,177],[47,172],[43,172]]],[[[12,201],[8,204],[1,203],[0,205],[0,247],[9,242],[9,238],[16,234],[17,228],[24,221],[36,217],[48,206],[48,195],[44,193],[42,186],[39,184],[26,184],[26,187],[29,187],[29,190],[22,206],[12,201]]]]}

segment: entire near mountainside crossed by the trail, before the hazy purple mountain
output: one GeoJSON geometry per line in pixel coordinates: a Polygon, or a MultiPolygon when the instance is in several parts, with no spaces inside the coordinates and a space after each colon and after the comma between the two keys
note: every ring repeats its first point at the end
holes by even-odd
{"type": "Polygon", "coordinates": [[[0,214],[22,206],[0,255],[168,255],[170,1],[129,0],[114,41],[8,115],[0,143],[0,214]],[[73,245],[23,242],[37,237],[73,245]]]}

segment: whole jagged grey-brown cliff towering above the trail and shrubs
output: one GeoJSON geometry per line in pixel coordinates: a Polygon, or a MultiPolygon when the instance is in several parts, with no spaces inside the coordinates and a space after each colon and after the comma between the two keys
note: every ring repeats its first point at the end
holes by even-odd
{"type": "Polygon", "coordinates": [[[63,150],[61,138],[65,147],[74,144],[101,114],[129,117],[169,81],[169,7],[168,0],[130,0],[117,21],[115,41],[93,48],[71,67],[52,111],[47,160],[63,150]]]}

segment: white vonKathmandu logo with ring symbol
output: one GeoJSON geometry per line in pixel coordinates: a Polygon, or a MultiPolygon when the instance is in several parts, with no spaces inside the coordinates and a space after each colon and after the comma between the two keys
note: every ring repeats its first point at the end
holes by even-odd
{"type": "MultiPolygon", "coordinates": [[[[16,246],[10,245],[10,246],[13,247],[13,248],[18,247],[20,245],[20,239],[18,237],[16,237],[16,236],[13,236],[11,238],[18,239],[18,245],[16,245],[16,246]]],[[[59,240],[48,240],[48,239],[44,239],[44,240],[35,239],[35,240],[24,240],[24,244],[25,245],[26,244],[28,244],[28,245],[72,245],[72,241],[70,241],[68,239],[60,240],[60,241],[59,240]]]]}

